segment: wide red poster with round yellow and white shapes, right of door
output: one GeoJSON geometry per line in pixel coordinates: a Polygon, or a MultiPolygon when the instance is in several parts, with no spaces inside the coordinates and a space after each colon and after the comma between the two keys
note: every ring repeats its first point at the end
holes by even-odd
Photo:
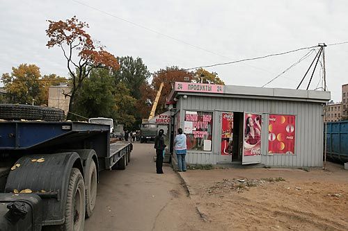
{"type": "Polygon", "coordinates": [[[294,115],[270,114],[268,132],[268,153],[294,154],[294,115]]]}

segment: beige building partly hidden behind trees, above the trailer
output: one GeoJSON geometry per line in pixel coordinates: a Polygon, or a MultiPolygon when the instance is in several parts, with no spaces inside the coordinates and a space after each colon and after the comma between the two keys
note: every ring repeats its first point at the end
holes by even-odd
{"type": "Polygon", "coordinates": [[[49,87],[48,106],[52,108],[61,108],[65,115],[67,115],[69,111],[70,97],[65,97],[64,94],[67,94],[68,92],[70,92],[70,87],[65,83],[49,87]]]}

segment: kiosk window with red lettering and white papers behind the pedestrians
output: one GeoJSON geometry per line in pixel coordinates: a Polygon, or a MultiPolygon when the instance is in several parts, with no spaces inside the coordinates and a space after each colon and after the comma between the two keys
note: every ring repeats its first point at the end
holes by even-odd
{"type": "Polygon", "coordinates": [[[185,112],[184,133],[188,150],[203,151],[205,141],[212,141],[212,130],[213,112],[185,112]]]}

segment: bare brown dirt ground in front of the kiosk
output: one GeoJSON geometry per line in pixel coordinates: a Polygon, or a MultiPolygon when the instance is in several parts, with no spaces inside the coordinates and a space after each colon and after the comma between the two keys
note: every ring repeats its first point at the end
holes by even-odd
{"type": "Polygon", "coordinates": [[[212,169],[180,173],[216,230],[348,230],[348,171],[212,169]]]}

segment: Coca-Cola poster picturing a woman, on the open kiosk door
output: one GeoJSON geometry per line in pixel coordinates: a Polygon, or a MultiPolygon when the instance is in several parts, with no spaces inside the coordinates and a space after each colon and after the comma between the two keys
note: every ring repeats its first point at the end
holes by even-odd
{"type": "Polygon", "coordinates": [[[261,115],[245,114],[244,155],[261,155],[261,115]]]}

